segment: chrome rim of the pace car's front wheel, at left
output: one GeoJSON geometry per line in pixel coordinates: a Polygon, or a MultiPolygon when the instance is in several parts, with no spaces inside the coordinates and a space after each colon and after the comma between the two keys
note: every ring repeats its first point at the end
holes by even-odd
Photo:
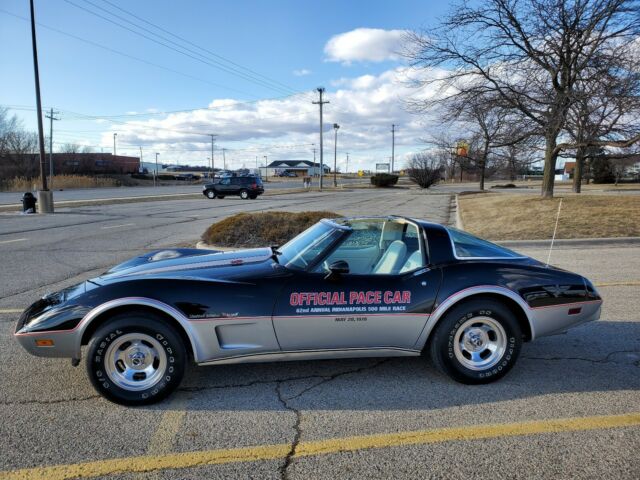
{"type": "Polygon", "coordinates": [[[167,354],[160,342],[144,333],[128,333],[114,340],[105,354],[111,381],[129,391],[147,390],[160,381],[167,354]]]}

